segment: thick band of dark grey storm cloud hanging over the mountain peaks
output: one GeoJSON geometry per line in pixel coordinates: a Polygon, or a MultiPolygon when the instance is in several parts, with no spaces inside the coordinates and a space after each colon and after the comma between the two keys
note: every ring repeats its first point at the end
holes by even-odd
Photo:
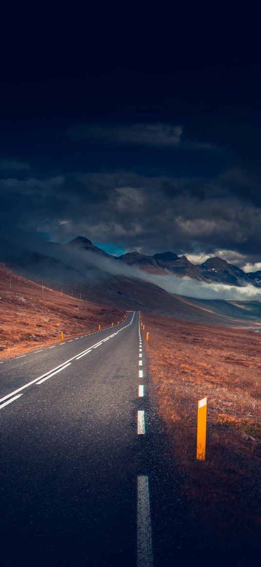
{"type": "Polygon", "coordinates": [[[253,263],[261,257],[261,208],[251,187],[239,168],[215,179],[129,171],[2,179],[1,232],[49,232],[58,241],[83,235],[145,253],[226,250],[253,263]]]}

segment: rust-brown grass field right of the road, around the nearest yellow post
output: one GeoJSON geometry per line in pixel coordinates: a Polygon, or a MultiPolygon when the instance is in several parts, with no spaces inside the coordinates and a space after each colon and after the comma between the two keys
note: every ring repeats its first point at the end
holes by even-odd
{"type": "Polygon", "coordinates": [[[149,376],[172,454],[185,472],[191,515],[198,510],[217,545],[237,546],[245,538],[255,547],[261,524],[261,336],[251,329],[142,318],[149,376]],[[204,396],[203,462],[196,460],[196,419],[204,396]]]}

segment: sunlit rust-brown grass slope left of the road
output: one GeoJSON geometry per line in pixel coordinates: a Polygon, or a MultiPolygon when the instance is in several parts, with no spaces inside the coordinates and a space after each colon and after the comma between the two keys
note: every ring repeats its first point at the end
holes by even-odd
{"type": "Polygon", "coordinates": [[[61,295],[14,274],[0,264],[0,358],[97,331],[125,311],[61,295]],[[10,289],[10,277],[11,289],[10,289]]]}

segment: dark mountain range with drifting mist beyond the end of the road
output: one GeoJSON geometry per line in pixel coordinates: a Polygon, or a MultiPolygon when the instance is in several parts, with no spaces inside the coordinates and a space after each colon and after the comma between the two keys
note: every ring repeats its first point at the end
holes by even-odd
{"type": "Polygon", "coordinates": [[[78,236],[67,244],[43,243],[37,251],[31,244],[19,246],[0,239],[0,263],[16,274],[72,297],[123,309],[136,309],[209,324],[234,324],[239,320],[260,320],[261,303],[206,300],[182,297],[156,285],[153,274],[189,276],[204,282],[230,285],[261,285],[260,273],[246,274],[220,258],[201,265],[186,256],[162,252],[153,256],[128,252],[116,257],[78,236]],[[88,252],[85,254],[85,252],[88,252]],[[125,266],[125,268],[124,268],[125,266]],[[140,268],[152,278],[140,277],[140,268]],[[242,303],[242,305],[241,305],[242,303]],[[246,306],[247,303],[247,306],[246,306]]]}

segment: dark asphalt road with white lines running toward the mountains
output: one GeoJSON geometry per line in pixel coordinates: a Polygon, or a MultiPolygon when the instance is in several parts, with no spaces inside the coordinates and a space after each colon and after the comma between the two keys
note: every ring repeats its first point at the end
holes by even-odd
{"type": "Polygon", "coordinates": [[[185,565],[139,313],[7,359],[0,378],[2,565],[185,565]]]}

